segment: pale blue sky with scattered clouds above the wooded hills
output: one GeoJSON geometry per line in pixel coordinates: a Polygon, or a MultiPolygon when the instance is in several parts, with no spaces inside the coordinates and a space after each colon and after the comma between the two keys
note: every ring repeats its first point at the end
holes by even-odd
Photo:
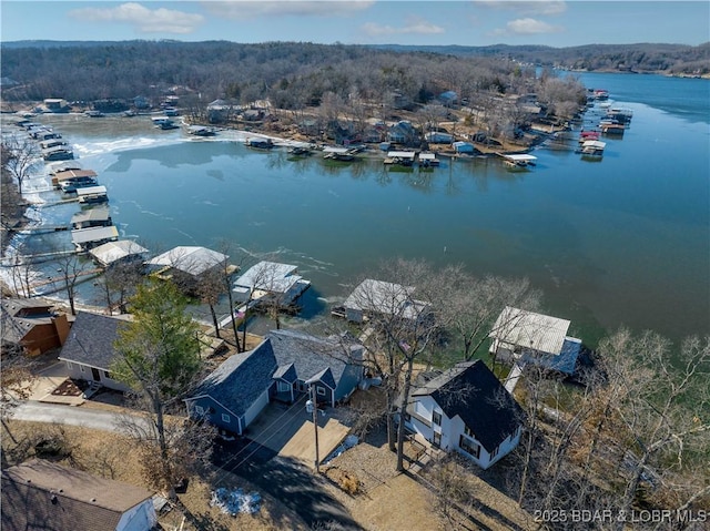
{"type": "Polygon", "coordinates": [[[0,0],[0,41],[226,40],[333,44],[710,41],[710,2],[649,0],[0,0]]]}

